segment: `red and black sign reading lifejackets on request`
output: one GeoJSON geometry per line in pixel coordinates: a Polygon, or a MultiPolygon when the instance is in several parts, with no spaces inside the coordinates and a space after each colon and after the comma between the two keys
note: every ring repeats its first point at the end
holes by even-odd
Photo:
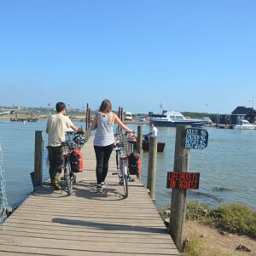
{"type": "Polygon", "coordinates": [[[167,189],[199,189],[199,172],[167,172],[167,189]]]}

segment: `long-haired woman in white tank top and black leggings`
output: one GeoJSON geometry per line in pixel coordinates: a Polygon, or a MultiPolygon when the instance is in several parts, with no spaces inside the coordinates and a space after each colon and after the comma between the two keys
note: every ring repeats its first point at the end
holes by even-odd
{"type": "Polygon", "coordinates": [[[114,147],[114,123],[121,126],[127,133],[133,132],[112,112],[112,104],[106,99],[102,101],[101,107],[90,125],[91,131],[96,130],[93,144],[96,154],[97,192],[99,193],[102,193],[102,189],[106,187],[105,178],[108,175],[108,162],[114,147]]]}

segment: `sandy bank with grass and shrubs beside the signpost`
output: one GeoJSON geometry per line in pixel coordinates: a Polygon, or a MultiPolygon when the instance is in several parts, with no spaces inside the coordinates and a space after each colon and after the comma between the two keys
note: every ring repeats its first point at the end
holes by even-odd
{"type": "MultiPolygon", "coordinates": [[[[160,210],[163,220],[170,218],[169,210],[160,210]]],[[[256,212],[241,204],[214,209],[188,201],[184,234],[183,256],[256,255],[256,212]]]]}

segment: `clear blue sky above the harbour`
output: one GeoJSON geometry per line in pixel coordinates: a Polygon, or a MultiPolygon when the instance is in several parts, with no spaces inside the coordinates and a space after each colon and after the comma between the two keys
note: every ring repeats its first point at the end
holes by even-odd
{"type": "Polygon", "coordinates": [[[0,0],[0,106],[256,108],[254,0],[0,0]]]}

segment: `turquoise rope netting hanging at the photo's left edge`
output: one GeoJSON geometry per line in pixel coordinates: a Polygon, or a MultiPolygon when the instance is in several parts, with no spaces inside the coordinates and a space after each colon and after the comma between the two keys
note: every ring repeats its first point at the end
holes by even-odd
{"type": "Polygon", "coordinates": [[[0,141],[0,224],[3,224],[4,220],[7,218],[6,209],[8,207],[3,172],[3,150],[0,141]]]}

